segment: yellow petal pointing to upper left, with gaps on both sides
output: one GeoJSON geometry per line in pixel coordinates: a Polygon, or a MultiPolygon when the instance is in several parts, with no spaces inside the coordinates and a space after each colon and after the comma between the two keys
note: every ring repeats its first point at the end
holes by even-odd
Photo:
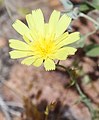
{"type": "Polygon", "coordinates": [[[30,36],[29,28],[23,22],[21,22],[20,20],[16,20],[15,23],[12,26],[21,35],[26,35],[30,40],[32,39],[31,36],[30,36]]]}

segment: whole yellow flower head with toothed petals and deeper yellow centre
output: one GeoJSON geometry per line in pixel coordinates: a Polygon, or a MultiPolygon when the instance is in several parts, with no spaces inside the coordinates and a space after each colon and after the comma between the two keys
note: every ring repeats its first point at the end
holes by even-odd
{"type": "Polygon", "coordinates": [[[10,39],[9,46],[15,50],[9,52],[12,59],[24,58],[22,64],[41,66],[44,63],[46,70],[55,70],[55,60],[65,60],[68,55],[74,55],[76,50],[67,46],[80,39],[79,32],[69,34],[65,32],[71,18],[54,10],[49,22],[44,23],[40,9],[33,10],[26,15],[28,27],[20,20],[13,24],[24,41],[10,39]]]}

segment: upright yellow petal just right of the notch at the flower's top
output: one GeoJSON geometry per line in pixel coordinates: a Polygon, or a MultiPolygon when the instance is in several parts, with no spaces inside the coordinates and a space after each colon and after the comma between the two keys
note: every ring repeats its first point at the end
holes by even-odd
{"type": "Polygon", "coordinates": [[[54,34],[56,31],[56,25],[60,17],[60,12],[54,10],[49,19],[49,34],[54,34]]]}

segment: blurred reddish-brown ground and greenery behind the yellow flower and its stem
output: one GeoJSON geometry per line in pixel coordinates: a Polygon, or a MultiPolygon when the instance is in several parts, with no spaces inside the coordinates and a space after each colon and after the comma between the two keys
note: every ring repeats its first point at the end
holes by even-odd
{"type": "Polygon", "coordinates": [[[99,0],[0,0],[0,120],[99,120],[99,0]],[[91,101],[88,108],[63,69],[46,72],[9,57],[8,40],[22,39],[12,23],[41,8],[45,21],[54,9],[73,18],[69,32],[79,31],[78,51],[60,64],[76,68],[78,83],[91,101]],[[52,104],[44,117],[46,106],[52,104]],[[55,106],[54,106],[55,104],[55,106]],[[95,109],[95,112],[93,112],[95,109]]]}

